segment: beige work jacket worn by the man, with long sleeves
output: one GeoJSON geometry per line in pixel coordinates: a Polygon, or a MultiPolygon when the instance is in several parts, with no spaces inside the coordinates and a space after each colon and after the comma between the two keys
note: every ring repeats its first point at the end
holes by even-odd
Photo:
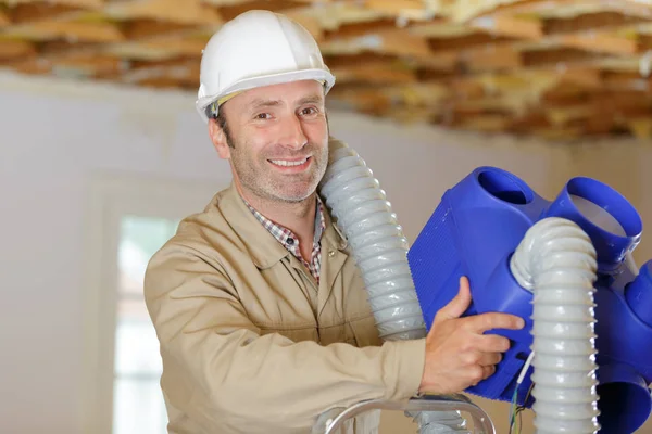
{"type": "MultiPolygon", "coordinates": [[[[325,214],[318,286],[233,184],[151,259],[145,296],[170,433],[310,433],[330,408],[417,393],[425,341],[380,342],[354,259],[325,214]]],[[[347,432],[374,432],[372,416],[347,432]]]]}

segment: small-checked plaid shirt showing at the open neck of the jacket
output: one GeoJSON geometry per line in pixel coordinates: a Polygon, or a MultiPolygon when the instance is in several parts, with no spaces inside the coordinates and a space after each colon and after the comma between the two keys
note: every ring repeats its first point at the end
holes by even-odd
{"type": "Polygon", "coordinates": [[[278,240],[278,242],[285,246],[297,259],[301,261],[309,270],[310,273],[315,278],[317,284],[319,283],[319,271],[322,268],[322,233],[324,233],[324,229],[326,229],[326,222],[324,220],[324,205],[322,201],[317,196],[317,212],[315,213],[315,237],[313,239],[313,250],[310,263],[303,259],[301,256],[301,251],[299,250],[299,239],[291,230],[276,225],[274,221],[269,220],[261,213],[259,213],[253,206],[249,204],[244,199],[242,199],[251,213],[255,216],[255,218],[263,225],[265,229],[269,231],[269,233],[278,240]]]}

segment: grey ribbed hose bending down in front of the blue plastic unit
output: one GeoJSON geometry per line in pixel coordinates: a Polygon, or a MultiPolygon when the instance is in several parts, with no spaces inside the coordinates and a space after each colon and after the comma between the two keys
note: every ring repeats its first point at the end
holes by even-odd
{"type": "Polygon", "coordinates": [[[593,324],[595,250],[575,222],[535,224],[512,255],[516,281],[534,293],[532,410],[538,434],[597,433],[593,324]]]}

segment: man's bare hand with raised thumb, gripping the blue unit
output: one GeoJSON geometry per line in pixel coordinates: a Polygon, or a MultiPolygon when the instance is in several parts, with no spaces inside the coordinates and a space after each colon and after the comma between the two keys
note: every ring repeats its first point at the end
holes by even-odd
{"type": "Polygon", "coordinates": [[[421,393],[460,393],[496,372],[510,341],[491,329],[523,329],[523,319],[509,314],[481,314],[460,318],[471,304],[468,279],[460,279],[460,292],[435,316],[426,337],[426,363],[421,393]]]}

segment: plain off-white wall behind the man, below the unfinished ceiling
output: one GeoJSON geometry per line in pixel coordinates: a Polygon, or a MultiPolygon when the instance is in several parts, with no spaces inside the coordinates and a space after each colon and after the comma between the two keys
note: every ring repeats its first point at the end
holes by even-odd
{"type": "MultiPolygon", "coordinates": [[[[215,186],[230,179],[192,102],[190,94],[0,76],[0,432],[82,433],[89,179],[97,173],[215,186]]],[[[343,113],[330,119],[334,136],[374,169],[411,240],[443,191],[479,165],[514,171],[549,199],[570,175],[604,178],[652,225],[644,194],[652,153],[641,144],[572,153],[535,140],[401,129],[343,113]]],[[[643,240],[639,256],[652,257],[651,247],[643,240]]],[[[503,423],[504,407],[488,406],[503,423]]]]}

